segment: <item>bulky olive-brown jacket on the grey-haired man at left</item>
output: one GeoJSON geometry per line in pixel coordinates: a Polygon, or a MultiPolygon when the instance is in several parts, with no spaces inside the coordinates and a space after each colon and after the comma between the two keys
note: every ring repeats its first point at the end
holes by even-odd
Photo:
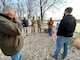
{"type": "Polygon", "coordinates": [[[0,48],[7,56],[17,54],[23,47],[22,27],[10,17],[0,13],[0,48]]]}

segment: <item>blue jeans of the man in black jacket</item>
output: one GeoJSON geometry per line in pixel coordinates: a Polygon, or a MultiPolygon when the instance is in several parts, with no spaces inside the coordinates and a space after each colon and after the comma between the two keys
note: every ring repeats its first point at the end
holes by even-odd
{"type": "Polygon", "coordinates": [[[60,53],[61,47],[64,46],[64,51],[62,54],[62,57],[65,58],[68,53],[68,45],[71,41],[71,37],[63,37],[63,36],[57,36],[56,40],[56,50],[54,52],[54,57],[58,58],[58,55],[60,53]]]}

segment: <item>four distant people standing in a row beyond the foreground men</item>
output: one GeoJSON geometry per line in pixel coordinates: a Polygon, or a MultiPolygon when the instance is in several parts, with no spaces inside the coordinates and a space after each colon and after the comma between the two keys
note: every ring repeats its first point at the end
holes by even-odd
{"type": "MultiPolygon", "coordinates": [[[[32,18],[31,20],[31,33],[36,33],[36,28],[38,33],[41,32],[41,28],[42,28],[42,21],[40,19],[40,17],[38,17],[37,20],[35,20],[35,17],[32,18]]],[[[48,25],[48,33],[50,36],[52,36],[53,34],[53,28],[54,28],[54,21],[52,20],[52,18],[50,18],[50,20],[47,23],[48,25]]],[[[27,35],[27,27],[29,26],[29,22],[26,19],[26,17],[24,17],[24,19],[22,20],[22,26],[23,26],[23,35],[24,37],[28,36],[27,35]]]]}

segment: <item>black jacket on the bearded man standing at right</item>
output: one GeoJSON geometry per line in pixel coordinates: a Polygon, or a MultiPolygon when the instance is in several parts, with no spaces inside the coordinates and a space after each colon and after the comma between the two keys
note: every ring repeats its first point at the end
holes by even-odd
{"type": "Polygon", "coordinates": [[[57,35],[72,37],[76,27],[76,19],[72,15],[64,16],[61,20],[57,35]]]}

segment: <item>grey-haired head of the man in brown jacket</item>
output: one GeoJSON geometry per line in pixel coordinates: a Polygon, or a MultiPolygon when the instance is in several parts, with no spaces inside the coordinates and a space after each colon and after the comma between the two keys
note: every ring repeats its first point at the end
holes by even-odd
{"type": "Polygon", "coordinates": [[[5,6],[2,11],[3,14],[13,18],[16,16],[16,10],[11,6],[5,6]]]}

